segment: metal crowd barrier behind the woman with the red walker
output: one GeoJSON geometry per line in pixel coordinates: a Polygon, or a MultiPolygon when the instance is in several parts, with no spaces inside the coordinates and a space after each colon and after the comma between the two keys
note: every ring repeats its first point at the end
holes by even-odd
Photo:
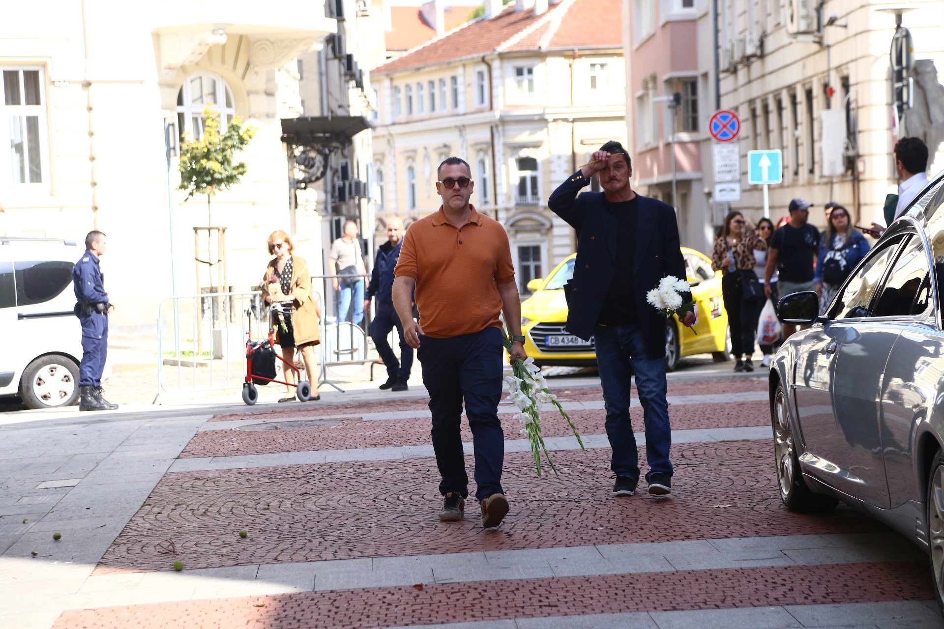
{"type": "MultiPolygon", "coordinates": [[[[333,280],[366,281],[370,275],[315,275],[312,290],[320,293],[321,343],[318,385],[344,391],[330,379],[329,370],[352,376],[374,360],[367,344],[370,310],[360,325],[352,322],[357,290],[350,287],[346,316],[339,317],[341,290],[333,280]],[[320,290],[319,290],[320,289],[320,290]],[[341,321],[339,321],[339,319],[341,321]]],[[[363,298],[361,296],[361,305],[363,298]]],[[[246,333],[265,339],[270,329],[270,308],[259,290],[209,292],[164,299],[158,312],[158,394],[240,389],[245,380],[246,333]]]]}

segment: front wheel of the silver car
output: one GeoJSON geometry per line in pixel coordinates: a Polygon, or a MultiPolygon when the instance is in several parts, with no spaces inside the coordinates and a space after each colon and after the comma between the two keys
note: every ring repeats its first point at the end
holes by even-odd
{"type": "Polygon", "coordinates": [[[773,423],[773,447],[777,459],[777,480],[780,498],[791,511],[829,511],[839,501],[831,496],[814,493],[806,486],[800,471],[800,456],[790,427],[784,384],[778,383],[770,405],[773,423]]]}

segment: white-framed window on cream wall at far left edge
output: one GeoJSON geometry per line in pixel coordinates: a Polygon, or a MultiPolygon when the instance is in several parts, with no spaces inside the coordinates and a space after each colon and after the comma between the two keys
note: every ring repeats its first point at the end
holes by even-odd
{"type": "MultiPolygon", "coordinates": [[[[0,174],[0,182],[3,184],[10,184],[16,186],[19,190],[49,190],[49,180],[50,169],[49,169],[49,122],[47,117],[46,109],[46,81],[45,81],[45,68],[42,66],[33,66],[33,65],[0,65],[0,71],[3,72],[16,72],[18,89],[20,90],[20,105],[7,105],[6,97],[0,95],[0,141],[3,141],[5,147],[4,151],[0,153],[0,168],[2,168],[2,174],[0,174]],[[39,105],[25,105],[25,72],[38,72],[38,82],[39,82],[39,105]],[[30,181],[30,167],[29,167],[29,158],[30,158],[30,148],[29,141],[25,140],[23,142],[23,175],[26,181],[17,181],[13,179],[13,159],[12,159],[12,138],[10,137],[10,119],[16,117],[22,119],[20,123],[21,133],[27,133],[25,129],[26,119],[27,118],[37,118],[37,146],[34,150],[38,150],[40,154],[40,179],[39,181],[30,181]]],[[[4,93],[3,85],[6,80],[5,74],[0,74],[0,93],[4,93]]],[[[0,189],[3,186],[0,185],[0,189]]]]}

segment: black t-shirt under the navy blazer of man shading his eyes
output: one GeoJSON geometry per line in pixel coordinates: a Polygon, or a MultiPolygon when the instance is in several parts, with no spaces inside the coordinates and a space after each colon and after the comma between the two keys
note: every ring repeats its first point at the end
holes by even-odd
{"type": "Polygon", "coordinates": [[[603,207],[616,217],[616,264],[610,290],[607,290],[598,323],[623,325],[638,320],[632,292],[632,269],[636,256],[636,225],[639,221],[639,197],[631,201],[610,203],[603,207]]]}

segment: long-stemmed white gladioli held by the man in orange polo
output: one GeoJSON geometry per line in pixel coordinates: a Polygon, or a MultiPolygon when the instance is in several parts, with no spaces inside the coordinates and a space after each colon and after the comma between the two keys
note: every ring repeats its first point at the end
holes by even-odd
{"type": "MultiPolygon", "coordinates": [[[[509,335],[502,331],[501,337],[504,340],[505,349],[511,355],[512,341],[509,335]]],[[[531,454],[534,455],[534,466],[537,468],[537,475],[541,475],[542,450],[545,458],[548,459],[550,469],[556,474],[557,468],[554,467],[554,462],[550,460],[548,448],[541,436],[541,408],[548,403],[555,406],[567,423],[570,424],[570,429],[574,431],[574,437],[577,438],[581,449],[585,450],[577,426],[567,415],[561,403],[557,401],[557,396],[548,389],[548,383],[541,374],[541,368],[534,364],[533,358],[529,357],[525,360],[515,358],[512,361],[512,375],[506,377],[505,382],[508,383],[510,391],[509,401],[518,408],[514,419],[524,424],[525,427],[521,429],[521,434],[527,435],[528,440],[531,441],[531,454]]]]}

